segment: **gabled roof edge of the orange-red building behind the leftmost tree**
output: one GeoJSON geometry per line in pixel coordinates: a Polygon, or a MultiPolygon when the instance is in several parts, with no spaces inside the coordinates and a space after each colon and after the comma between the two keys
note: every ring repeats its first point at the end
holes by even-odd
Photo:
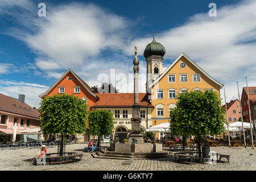
{"type": "Polygon", "coordinates": [[[68,70],[67,70],[67,71],[66,71],[66,72],[48,89],[48,90],[46,90],[46,92],[40,94],[39,97],[42,98],[42,97],[46,96],[47,94],[49,94],[49,92],[51,92],[51,90],[54,89],[54,88],[57,86],[57,84],[59,84],[60,81],[63,80],[63,79],[68,75],[68,73],[72,73],[72,74],[76,77],[76,79],[80,82],[80,84],[81,84],[82,86],[84,86],[84,88],[85,88],[93,97],[98,98],[98,96],[97,96],[95,93],[93,93],[93,90],[90,88],[90,86],[89,86],[88,84],[86,84],[86,82],[84,82],[84,80],[82,80],[79,76],[77,76],[76,73],[73,72],[70,68],[69,68],[69,69],[68,69],[68,70]]]}

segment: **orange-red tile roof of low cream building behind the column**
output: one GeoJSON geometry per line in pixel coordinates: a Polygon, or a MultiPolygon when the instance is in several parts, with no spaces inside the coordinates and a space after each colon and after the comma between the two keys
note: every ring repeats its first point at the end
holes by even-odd
{"type": "MultiPolygon", "coordinates": [[[[134,104],[133,93],[96,93],[100,98],[92,107],[132,107],[134,104]]],[[[148,94],[139,93],[141,107],[154,107],[148,100],[148,94]]]]}

